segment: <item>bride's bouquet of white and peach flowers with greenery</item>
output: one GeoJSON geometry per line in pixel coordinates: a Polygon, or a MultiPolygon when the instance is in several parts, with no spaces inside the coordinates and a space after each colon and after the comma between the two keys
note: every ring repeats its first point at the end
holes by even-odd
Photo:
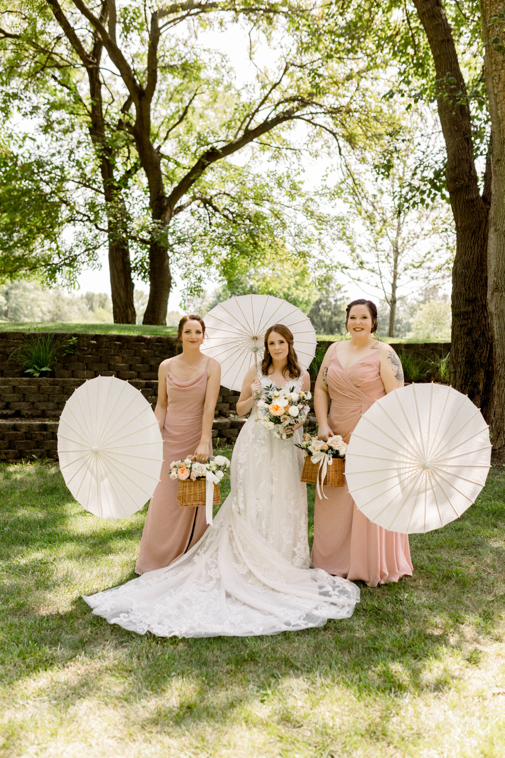
{"type": "Polygon", "coordinates": [[[281,390],[275,384],[269,384],[256,404],[254,421],[261,421],[265,428],[273,431],[282,440],[294,433],[295,424],[303,424],[310,411],[307,400],[312,394],[295,387],[281,390]]]}

